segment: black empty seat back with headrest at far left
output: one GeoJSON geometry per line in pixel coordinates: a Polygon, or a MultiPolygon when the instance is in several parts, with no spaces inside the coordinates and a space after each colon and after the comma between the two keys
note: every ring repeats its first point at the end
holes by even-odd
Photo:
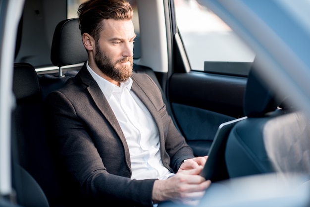
{"type": "MultiPolygon", "coordinates": [[[[32,65],[28,63],[14,64],[13,93],[16,98],[16,107],[12,114],[12,133],[16,139],[13,143],[15,147],[13,147],[12,153],[17,166],[20,165],[30,175],[16,167],[15,172],[20,172],[16,174],[16,180],[34,178],[52,206],[52,204],[57,203],[61,191],[58,188],[58,179],[47,142],[41,87],[32,65]]],[[[28,179],[29,182],[25,179],[22,180],[26,186],[28,186],[27,183],[32,182],[31,179],[28,179]]],[[[20,182],[15,182],[15,184],[19,185],[20,182]]],[[[16,186],[16,188],[25,190],[25,185],[16,186]]],[[[32,186],[33,188],[28,186],[29,192],[17,192],[17,198],[21,196],[23,202],[26,203],[29,200],[37,202],[38,199],[34,199],[34,197],[44,194],[34,190],[37,189],[37,185],[32,186]],[[34,197],[27,196],[31,192],[34,197]]],[[[46,206],[46,204],[40,206],[46,206]]]]}

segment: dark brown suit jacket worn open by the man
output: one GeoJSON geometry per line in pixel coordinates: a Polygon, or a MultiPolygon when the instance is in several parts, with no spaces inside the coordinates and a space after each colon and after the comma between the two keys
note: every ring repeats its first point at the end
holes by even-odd
{"type": "MultiPolygon", "coordinates": [[[[161,93],[146,74],[132,75],[132,91],[150,110],[159,130],[161,159],[176,172],[192,149],[167,114],[161,93]]],[[[152,206],[154,179],[131,180],[126,138],[102,91],[86,68],[47,98],[49,135],[60,160],[92,201],[152,206]]],[[[59,160],[58,160],[59,161],[59,160]]],[[[115,203],[114,203],[115,204],[115,203]]],[[[127,206],[128,206],[127,205],[127,206]]]]}

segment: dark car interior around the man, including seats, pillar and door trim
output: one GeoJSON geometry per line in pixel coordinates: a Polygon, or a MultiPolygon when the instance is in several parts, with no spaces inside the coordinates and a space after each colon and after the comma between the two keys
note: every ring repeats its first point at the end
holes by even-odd
{"type": "MultiPolygon", "coordinates": [[[[133,71],[154,80],[168,114],[194,155],[209,155],[219,126],[238,120],[220,140],[218,156],[210,157],[212,165],[220,165],[224,172],[214,181],[273,172],[309,173],[309,149],[303,147],[310,146],[309,120],[288,98],[269,90],[260,80],[256,73],[259,58],[253,63],[227,63],[229,66],[206,61],[205,71],[189,69],[182,36],[171,15],[176,1],[135,3],[141,50],[135,49],[139,58],[133,71]],[[163,34],[161,30],[154,32],[152,25],[164,29],[163,34]],[[245,67],[246,72],[236,75],[226,70],[239,67],[245,67]]],[[[53,162],[44,111],[47,95],[74,77],[88,58],[78,19],[68,18],[66,9],[66,0],[25,0],[18,27],[12,86],[16,100],[12,112],[12,183],[16,203],[24,207],[72,205],[66,203],[68,195],[53,162]],[[45,35],[40,36],[42,33],[45,35]],[[40,44],[44,50],[38,51],[48,55],[35,55],[40,44]]]]}

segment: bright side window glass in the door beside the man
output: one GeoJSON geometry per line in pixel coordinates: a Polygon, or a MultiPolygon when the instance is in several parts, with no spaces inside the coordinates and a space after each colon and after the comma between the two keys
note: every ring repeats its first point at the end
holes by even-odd
{"type": "Polygon", "coordinates": [[[212,11],[197,0],[174,2],[176,22],[192,70],[204,71],[209,62],[253,62],[254,52],[212,11]]]}

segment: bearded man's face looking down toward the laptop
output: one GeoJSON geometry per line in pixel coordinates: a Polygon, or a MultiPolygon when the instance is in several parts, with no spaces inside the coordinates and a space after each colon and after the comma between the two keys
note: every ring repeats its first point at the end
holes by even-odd
{"type": "Polygon", "coordinates": [[[104,28],[96,42],[95,62],[109,78],[126,81],[132,74],[133,43],[136,34],[131,20],[104,21],[104,28]]]}

